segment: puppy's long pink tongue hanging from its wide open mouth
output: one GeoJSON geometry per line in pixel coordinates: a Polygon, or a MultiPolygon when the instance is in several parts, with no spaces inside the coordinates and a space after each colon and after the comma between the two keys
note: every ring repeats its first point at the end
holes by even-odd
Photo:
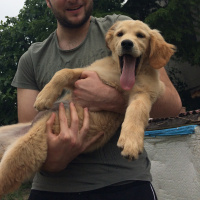
{"type": "Polygon", "coordinates": [[[120,77],[120,84],[124,90],[130,90],[135,83],[135,64],[136,58],[129,55],[123,56],[123,69],[120,77]]]}

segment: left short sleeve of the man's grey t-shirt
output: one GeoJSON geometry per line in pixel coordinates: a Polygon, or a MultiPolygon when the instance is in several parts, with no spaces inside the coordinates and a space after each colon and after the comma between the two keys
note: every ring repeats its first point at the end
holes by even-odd
{"type": "Polygon", "coordinates": [[[11,85],[17,88],[39,90],[35,81],[35,73],[29,51],[21,56],[11,85]]]}

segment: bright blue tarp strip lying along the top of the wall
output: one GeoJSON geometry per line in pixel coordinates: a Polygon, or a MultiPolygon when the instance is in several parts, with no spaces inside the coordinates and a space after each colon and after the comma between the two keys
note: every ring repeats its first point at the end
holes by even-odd
{"type": "Polygon", "coordinates": [[[145,136],[156,137],[156,136],[190,135],[195,133],[195,128],[197,126],[198,125],[188,125],[177,128],[145,131],[145,136]]]}

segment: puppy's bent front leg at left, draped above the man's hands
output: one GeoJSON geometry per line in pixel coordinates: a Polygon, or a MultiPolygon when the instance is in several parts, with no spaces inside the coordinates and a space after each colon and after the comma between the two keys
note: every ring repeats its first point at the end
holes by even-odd
{"type": "Polygon", "coordinates": [[[34,107],[39,111],[51,108],[64,88],[73,89],[74,83],[82,72],[81,68],[62,69],[56,72],[51,81],[38,94],[34,107]]]}

